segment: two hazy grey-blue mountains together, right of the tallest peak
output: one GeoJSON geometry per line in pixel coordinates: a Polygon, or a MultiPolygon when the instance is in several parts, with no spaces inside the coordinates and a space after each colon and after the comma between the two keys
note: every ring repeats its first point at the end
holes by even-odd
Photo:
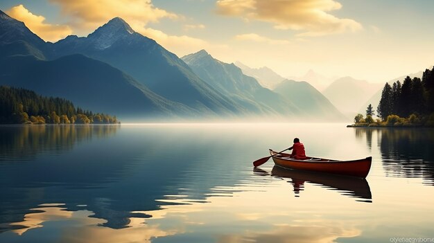
{"type": "Polygon", "coordinates": [[[205,50],[186,55],[182,60],[218,91],[240,104],[257,107],[257,111],[264,114],[286,114],[300,117],[300,120],[318,120],[318,116],[325,120],[344,119],[338,109],[307,82],[281,80],[275,89],[270,90],[245,75],[236,64],[216,60],[205,50]]]}

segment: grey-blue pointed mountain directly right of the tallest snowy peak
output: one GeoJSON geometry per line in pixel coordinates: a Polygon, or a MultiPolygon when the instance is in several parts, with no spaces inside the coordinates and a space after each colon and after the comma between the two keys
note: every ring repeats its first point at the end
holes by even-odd
{"type": "Polygon", "coordinates": [[[182,60],[189,64],[202,80],[243,107],[254,107],[266,114],[286,115],[298,112],[297,107],[286,102],[279,94],[262,87],[254,78],[244,75],[238,66],[220,62],[205,50],[186,55],[182,60]]]}

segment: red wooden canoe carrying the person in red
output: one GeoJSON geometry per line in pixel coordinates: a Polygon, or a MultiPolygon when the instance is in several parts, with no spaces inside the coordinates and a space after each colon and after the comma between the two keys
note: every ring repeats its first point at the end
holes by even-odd
{"type": "Polygon", "coordinates": [[[331,174],[342,174],[350,177],[366,178],[370,172],[372,157],[358,159],[354,161],[336,161],[333,159],[322,159],[306,157],[306,159],[290,158],[290,154],[280,153],[270,150],[272,160],[280,167],[293,170],[309,170],[315,172],[325,172],[331,174]]]}

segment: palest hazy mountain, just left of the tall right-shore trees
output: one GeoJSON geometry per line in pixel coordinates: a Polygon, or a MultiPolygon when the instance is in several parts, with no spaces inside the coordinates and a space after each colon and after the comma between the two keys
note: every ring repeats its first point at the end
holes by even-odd
{"type": "Polygon", "coordinates": [[[381,84],[351,77],[340,78],[322,92],[342,114],[351,118],[365,105],[381,84]]]}

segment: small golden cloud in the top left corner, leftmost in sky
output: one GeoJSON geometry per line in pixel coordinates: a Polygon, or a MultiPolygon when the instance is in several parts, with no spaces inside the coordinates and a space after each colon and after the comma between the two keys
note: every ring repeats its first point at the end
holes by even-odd
{"type": "Polygon", "coordinates": [[[47,24],[45,17],[41,15],[33,15],[32,12],[27,10],[22,4],[10,8],[6,13],[19,21],[23,21],[26,26],[42,39],[55,42],[58,39],[71,35],[72,30],[69,26],[58,24],[47,24]]]}

